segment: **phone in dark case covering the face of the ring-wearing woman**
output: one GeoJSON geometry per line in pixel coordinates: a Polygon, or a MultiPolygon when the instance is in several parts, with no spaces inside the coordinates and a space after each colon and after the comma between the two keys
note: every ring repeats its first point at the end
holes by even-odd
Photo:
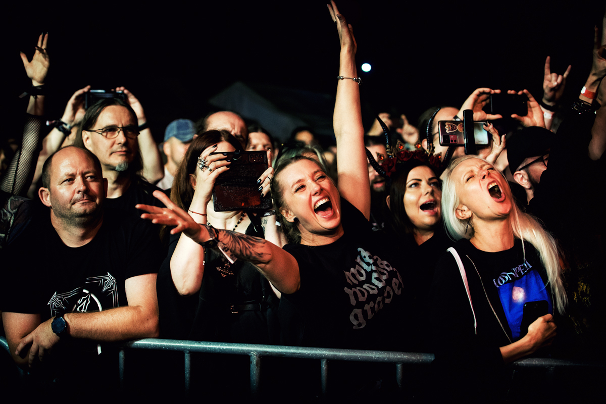
{"type": "Polygon", "coordinates": [[[268,210],[271,208],[271,197],[261,197],[257,180],[267,170],[267,153],[265,151],[233,151],[223,154],[230,160],[229,170],[222,173],[215,181],[213,188],[213,205],[215,211],[234,210],[268,210]]]}

